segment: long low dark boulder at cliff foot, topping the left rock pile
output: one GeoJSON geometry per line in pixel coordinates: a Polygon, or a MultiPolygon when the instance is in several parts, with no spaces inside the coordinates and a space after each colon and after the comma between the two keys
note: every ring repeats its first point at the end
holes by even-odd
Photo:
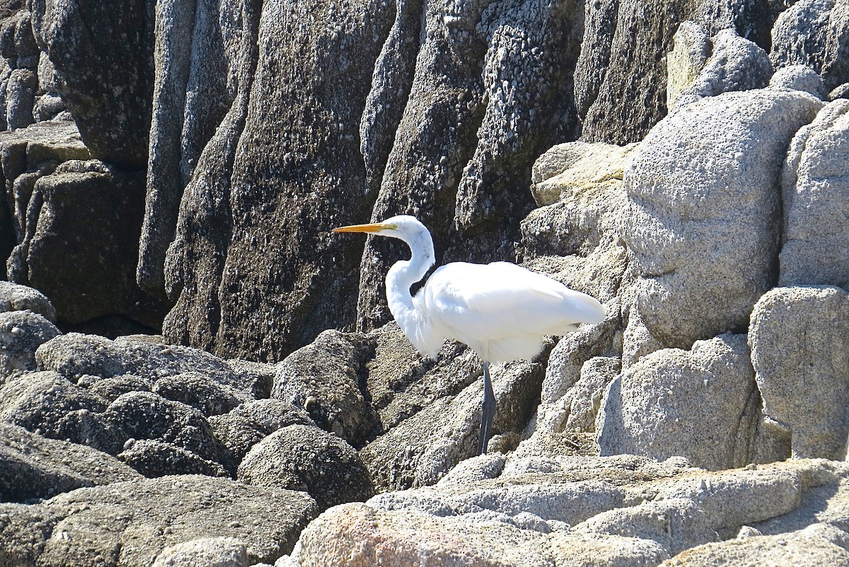
{"type": "Polygon", "coordinates": [[[69,333],[42,345],[36,361],[39,368],[55,370],[71,380],[85,374],[104,378],[132,374],[155,382],[165,376],[196,372],[219,385],[245,389],[239,375],[217,356],[188,346],[163,345],[155,337],[109,340],[69,333]]]}

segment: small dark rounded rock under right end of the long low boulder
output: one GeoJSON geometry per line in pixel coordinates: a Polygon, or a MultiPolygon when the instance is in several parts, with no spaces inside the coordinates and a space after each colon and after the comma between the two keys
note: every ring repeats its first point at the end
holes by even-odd
{"type": "Polygon", "coordinates": [[[202,373],[180,373],[160,378],[153,391],[167,400],[180,401],[205,416],[228,413],[248,401],[244,392],[220,385],[202,373]]]}

